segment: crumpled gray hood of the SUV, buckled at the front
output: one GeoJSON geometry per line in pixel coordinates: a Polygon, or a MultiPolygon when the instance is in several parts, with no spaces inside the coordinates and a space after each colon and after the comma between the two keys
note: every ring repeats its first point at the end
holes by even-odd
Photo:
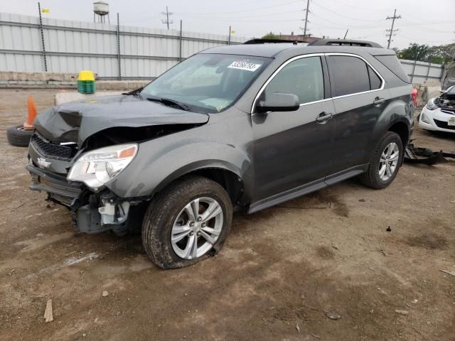
{"type": "Polygon", "coordinates": [[[82,143],[87,137],[112,127],[161,124],[205,124],[208,114],[186,112],[138,97],[96,97],[46,109],[35,120],[36,130],[54,142],[82,143]]]}

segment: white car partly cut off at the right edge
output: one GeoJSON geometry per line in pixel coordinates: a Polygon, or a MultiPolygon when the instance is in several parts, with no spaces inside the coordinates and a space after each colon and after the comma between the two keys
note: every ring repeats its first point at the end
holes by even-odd
{"type": "Polygon", "coordinates": [[[430,99],[419,117],[422,129],[455,133],[455,85],[430,99]]]}

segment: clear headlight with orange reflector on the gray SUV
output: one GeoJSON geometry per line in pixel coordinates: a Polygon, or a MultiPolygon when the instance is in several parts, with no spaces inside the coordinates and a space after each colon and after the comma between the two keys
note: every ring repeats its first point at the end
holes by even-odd
{"type": "Polygon", "coordinates": [[[137,144],[119,144],[88,151],[71,167],[68,180],[80,181],[97,189],[123,171],[136,153],[137,144]]]}

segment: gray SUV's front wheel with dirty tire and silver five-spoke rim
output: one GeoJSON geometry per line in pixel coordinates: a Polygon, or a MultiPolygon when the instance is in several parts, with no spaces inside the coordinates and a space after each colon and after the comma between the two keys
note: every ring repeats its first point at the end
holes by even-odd
{"type": "Polygon", "coordinates": [[[142,223],[142,243],[161,269],[182,268],[220,251],[231,224],[232,203],[225,189],[190,176],[154,198],[142,223]]]}

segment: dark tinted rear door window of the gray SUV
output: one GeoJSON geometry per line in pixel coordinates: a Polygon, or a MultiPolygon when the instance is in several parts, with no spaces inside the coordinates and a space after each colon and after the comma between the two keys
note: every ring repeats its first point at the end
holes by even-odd
{"type": "Polygon", "coordinates": [[[370,90],[367,64],[360,58],[331,55],[328,58],[330,77],[335,85],[333,97],[370,90]]]}

